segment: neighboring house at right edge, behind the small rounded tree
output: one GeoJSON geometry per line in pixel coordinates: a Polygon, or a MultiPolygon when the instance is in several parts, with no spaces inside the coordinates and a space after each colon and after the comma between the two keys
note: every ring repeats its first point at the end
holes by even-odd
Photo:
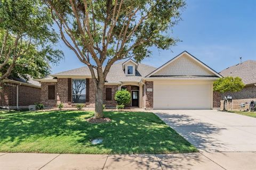
{"type": "MultiPolygon", "coordinates": [[[[220,74],[223,77],[240,77],[245,87],[243,90],[233,93],[226,93],[220,96],[221,108],[223,108],[223,97],[230,95],[233,98],[233,109],[240,109],[241,103],[247,102],[245,109],[249,108],[251,100],[256,101],[256,61],[247,60],[222,70],[220,74]]],[[[214,99],[215,100],[215,99],[214,99]]],[[[231,104],[228,105],[231,108],[231,104]]]]}

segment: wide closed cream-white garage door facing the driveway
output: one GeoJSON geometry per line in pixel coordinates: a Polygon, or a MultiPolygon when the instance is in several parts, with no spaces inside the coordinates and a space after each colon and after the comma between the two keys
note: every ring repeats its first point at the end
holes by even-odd
{"type": "Polygon", "coordinates": [[[154,109],[210,109],[211,83],[154,81],[154,109]]]}

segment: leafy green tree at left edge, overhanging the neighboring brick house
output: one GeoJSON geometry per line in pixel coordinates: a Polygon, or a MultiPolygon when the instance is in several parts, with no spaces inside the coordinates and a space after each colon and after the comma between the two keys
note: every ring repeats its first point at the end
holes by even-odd
{"type": "Polygon", "coordinates": [[[0,1],[0,82],[14,77],[44,77],[49,63],[63,54],[54,49],[58,34],[49,8],[39,0],[0,1]]]}

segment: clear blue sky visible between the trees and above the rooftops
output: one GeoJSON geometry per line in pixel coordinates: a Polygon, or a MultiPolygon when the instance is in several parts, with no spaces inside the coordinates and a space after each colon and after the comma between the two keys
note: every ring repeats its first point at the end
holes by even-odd
{"type": "MultiPolygon", "coordinates": [[[[188,0],[182,19],[169,31],[182,42],[170,50],[151,48],[151,57],[142,63],[158,67],[184,50],[218,72],[241,56],[256,60],[256,0],[188,0]]],[[[52,73],[84,66],[61,41],[58,48],[65,59],[52,66],[52,73]]]]}

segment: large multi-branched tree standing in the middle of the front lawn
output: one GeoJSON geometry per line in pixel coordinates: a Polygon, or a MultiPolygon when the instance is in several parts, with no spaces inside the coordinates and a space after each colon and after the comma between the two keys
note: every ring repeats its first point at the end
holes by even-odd
{"type": "Polygon", "coordinates": [[[140,62],[149,47],[169,49],[178,39],[171,28],[180,20],[183,0],[45,0],[61,39],[91,72],[95,117],[103,117],[103,87],[111,65],[133,57],[140,62]],[[105,69],[103,69],[103,65],[105,69]]]}

